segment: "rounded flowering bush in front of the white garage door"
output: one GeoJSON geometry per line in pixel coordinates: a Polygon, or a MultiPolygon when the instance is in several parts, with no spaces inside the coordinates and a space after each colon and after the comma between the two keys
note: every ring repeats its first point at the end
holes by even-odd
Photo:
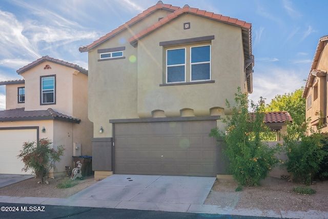
{"type": "Polygon", "coordinates": [[[42,138],[38,142],[25,142],[17,157],[22,158],[25,164],[22,170],[26,172],[32,169],[33,173],[43,179],[51,168],[56,168],[55,163],[60,161],[64,150],[62,145],[58,146],[57,150],[53,149],[52,142],[42,138]]]}

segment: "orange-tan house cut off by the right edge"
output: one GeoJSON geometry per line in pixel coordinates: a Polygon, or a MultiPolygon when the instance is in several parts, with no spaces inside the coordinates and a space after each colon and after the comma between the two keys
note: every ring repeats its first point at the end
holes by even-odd
{"type": "Polygon", "coordinates": [[[306,120],[311,119],[310,127],[318,129],[322,122],[322,131],[328,132],[327,127],[327,94],[328,94],[328,35],[319,39],[308,80],[303,91],[306,98],[306,120]]]}

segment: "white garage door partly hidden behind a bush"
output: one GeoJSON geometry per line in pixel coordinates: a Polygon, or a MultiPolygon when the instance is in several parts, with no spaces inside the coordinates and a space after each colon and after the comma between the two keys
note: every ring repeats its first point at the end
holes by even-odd
{"type": "Polygon", "coordinates": [[[22,171],[24,163],[17,157],[28,141],[36,141],[36,129],[0,130],[0,173],[31,174],[31,171],[22,171]]]}

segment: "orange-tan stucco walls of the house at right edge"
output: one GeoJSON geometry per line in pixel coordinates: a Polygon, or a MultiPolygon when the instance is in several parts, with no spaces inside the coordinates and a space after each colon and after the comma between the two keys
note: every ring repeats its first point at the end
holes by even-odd
{"type": "MultiPolygon", "coordinates": [[[[316,67],[317,70],[328,71],[328,47],[325,46],[321,52],[321,56],[316,67]]],[[[311,117],[311,121],[314,122],[318,119],[319,115],[316,115],[316,112],[321,111],[323,116],[328,115],[327,107],[327,97],[328,97],[328,78],[326,75],[320,75],[315,77],[315,81],[312,83],[312,86],[309,88],[306,98],[312,95],[312,107],[309,109],[306,106],[306,118],[311,117]],[[317,90],[317,91],[316,91],[317,90]],[[316,94],[317,93],[317,96],[316,94]]],[[[316,126],[312,126],[314,130],[317,130],[316,126]]],[[[322,128],[323,132],[328,132],[328,127],[322,128]]]]}

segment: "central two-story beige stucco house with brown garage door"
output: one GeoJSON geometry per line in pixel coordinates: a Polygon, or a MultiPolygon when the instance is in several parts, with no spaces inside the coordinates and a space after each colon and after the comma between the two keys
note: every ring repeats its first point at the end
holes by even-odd
{"type": "Polygon", "coordinates": [[[89,56],[95,178],[225,174],[210,130],[252,93],[251,24],[161,1],[79,48],[89,56]]]}

